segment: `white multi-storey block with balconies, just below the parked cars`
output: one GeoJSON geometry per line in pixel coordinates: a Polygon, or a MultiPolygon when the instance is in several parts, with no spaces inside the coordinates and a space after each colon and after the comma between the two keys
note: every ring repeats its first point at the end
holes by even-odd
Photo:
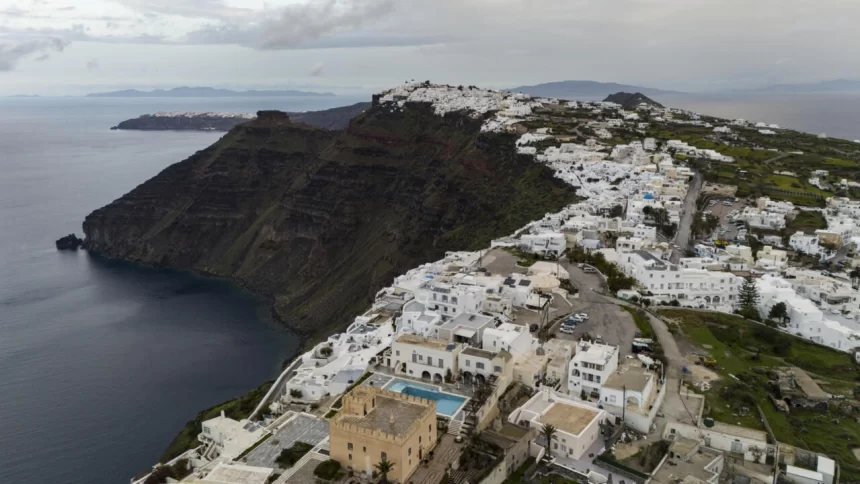
{"type": "Polygon", "coordinates": [[[579,341],[570,363],[568,395],[600,396],[603,383],[618,368],[618,347],[579,341]]]}

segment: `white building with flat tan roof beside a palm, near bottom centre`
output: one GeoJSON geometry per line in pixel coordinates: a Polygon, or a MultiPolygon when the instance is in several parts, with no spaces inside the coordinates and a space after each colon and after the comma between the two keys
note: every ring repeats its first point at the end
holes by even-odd
{"type": "MultiPolygon", "coordinates": [[[[540,433],[544,425],[556,432],[550,443],[553,457],[580,459],[600,439],[600,424],[607,419],[603,410],[568,400],[542,390],[508,416],[508,422],[533,428],[540,433]]],[[[538,434],[537,440],[542,438],[538,434]]],[[[539,449],[540,447],[538,447],[539,449]]]]}

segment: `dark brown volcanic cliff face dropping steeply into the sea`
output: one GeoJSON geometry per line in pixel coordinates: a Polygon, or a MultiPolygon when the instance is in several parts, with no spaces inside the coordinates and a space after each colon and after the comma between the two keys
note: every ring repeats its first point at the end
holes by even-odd
{"type": "Polygon", "coordinates": [[[340,132],[261,112],[84,221],[108,257],[232,277],[304,335],[396,275],[485,247],[575,199],[480,119],[373,107],[340,132]]]}

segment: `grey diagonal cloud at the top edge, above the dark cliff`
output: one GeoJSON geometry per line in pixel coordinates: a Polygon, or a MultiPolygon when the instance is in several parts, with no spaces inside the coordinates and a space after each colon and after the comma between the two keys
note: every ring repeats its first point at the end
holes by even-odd
{"type": "Polygon", "coordinates": [[[394,0],[317,0],[284,7],[275,19],[262,23],[259,47],[292,49],[325,35],[360,28],[394,10],[394,0]]]}

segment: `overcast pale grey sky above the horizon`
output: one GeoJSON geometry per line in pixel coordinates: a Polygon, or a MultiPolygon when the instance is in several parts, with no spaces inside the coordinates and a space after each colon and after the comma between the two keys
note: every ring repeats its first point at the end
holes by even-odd
{"type": "Polygon", "coordinates": [[[0,95],[860,79],[857,0],[0,0],[0,95]]]}

